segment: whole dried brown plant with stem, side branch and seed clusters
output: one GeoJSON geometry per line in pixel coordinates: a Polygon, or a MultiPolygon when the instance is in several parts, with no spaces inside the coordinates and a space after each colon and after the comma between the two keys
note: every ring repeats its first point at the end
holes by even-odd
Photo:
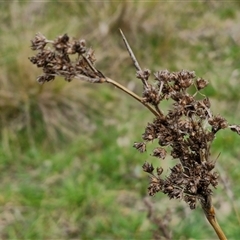
{"type": "Polygon", "coordinates": [[[195,209],[199,201],[219,239],[226,239],[212,205],[212,189],[218,185],[218,173],[214,171],[215,161],[210,158],[211,145],[218,131],[229,128],[240,134],[240,126],[230,125],[223,117],[211,112],[210,100],[201,93],[208,81],[197,78],[193,71],[157,71],[153,74],[154,82],[150,82],[150,70],[141,69],[120,32],[136,68],[136,77],[143,85],[141,97],[96,69],[94,51],[86,47],[85,40],[70,39],[67,34],[51,41],[38,33],[32,40],[31,48],[37,54],[30,57],[30,61],[43,70],[37,81],[43,84],[62,76],[66,81],[110,83],[148,108],[154,119],[142,134],[143,141],[134,143],[134,147],[145,152],[149,142],[157,141],[159,146],[152,156],[164,159],[169,153],[177,160],[168,176],[162,175],[162,167],[155,170],[152,164],[143,164],[143,170],[150,175],[149,195],[162,192],[170,199],[185,201],[191,209],[195,209]],[[171,103],[166,113],[161,109],[164,101],[171,103]]]}

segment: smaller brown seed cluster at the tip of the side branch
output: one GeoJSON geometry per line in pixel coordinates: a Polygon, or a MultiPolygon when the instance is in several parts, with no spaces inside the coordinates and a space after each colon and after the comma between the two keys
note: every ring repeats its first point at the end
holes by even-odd
{"type": "Polygon", "coordinates": [[[93,50],[86,48],[85,40],[70,40],[64,34],[50,41],[38,33],[31,43],[32,50],[38,52],[29,59],[43,70],[43,75],[37,78],[39,83],[54,80],[56,76],[62,76],[66,81],[73,78],[96,83],[103,81],[104,76],[93,66],[93,50]],[[51,48],[47,44],[51,44],[51,48]],[[75,59],[72,60],[70,55],[75,55],[75,59]]]}

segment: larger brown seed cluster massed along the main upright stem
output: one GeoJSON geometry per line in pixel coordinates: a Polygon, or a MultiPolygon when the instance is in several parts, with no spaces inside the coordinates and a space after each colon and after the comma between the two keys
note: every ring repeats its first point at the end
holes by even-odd
{"type": "MultiPolygon", "coordinates": [[[[157,141],[159,147],[153,150],[152,156],[164,159],[169,152],[173,159],[179,160],[165,177],[161,167],[154,173],[152,164],[143,165],[143,170],[150,174],[148,193],[153,196],[162,192],[170,199],[184,200],[194,209],[197,200],[207,203],[212,187],[218,184],[218,174],[213,171],[215,162],[210,160],[210,147],[215,134],[227,128],[228,123],[221,116],[212,115],[209,99],[199,93],[208,82],[195,79],[194,72],[163,70],[154,76],[156,83],[144,90],[144,100],[157,109],[164,100],[172,100],[172,107],[166,114],[161,111],[147,124],[142,135],[144,142],[134,147],[143,152],[138,146],[144,146],[145,151],[147,142],[157,141]],[[195,86],[194,94],[188,91],[192,86],[195,86]]],[[[237,131],[236,128],[232,130],[237,131]]]]}

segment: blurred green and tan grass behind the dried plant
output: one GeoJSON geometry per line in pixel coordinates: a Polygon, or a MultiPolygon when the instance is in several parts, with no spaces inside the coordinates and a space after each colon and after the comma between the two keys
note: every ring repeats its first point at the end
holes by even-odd
{"type": "MultiPolygon", "coordinates": [[[[0,238],[152,239],[141,166],[173,164],[132,148],[152,115],[119,90],[63,79],[39,85],[28,60],[36,32],[86,39],[97,67],[141,94],[121,28],[143,68],[194,70],[210,82],[213,112],[239,123],[239,22],[238,1],[2,2],[0,238]]],[[[229,239],[240,235],[239,143],[223,131],[212,153],[220,173],[213,199],[229,239]]],[[[162,194],[150,200],[160,218],[170,209],[173,239],[216,239],[200,208],[162,194]]]]}

